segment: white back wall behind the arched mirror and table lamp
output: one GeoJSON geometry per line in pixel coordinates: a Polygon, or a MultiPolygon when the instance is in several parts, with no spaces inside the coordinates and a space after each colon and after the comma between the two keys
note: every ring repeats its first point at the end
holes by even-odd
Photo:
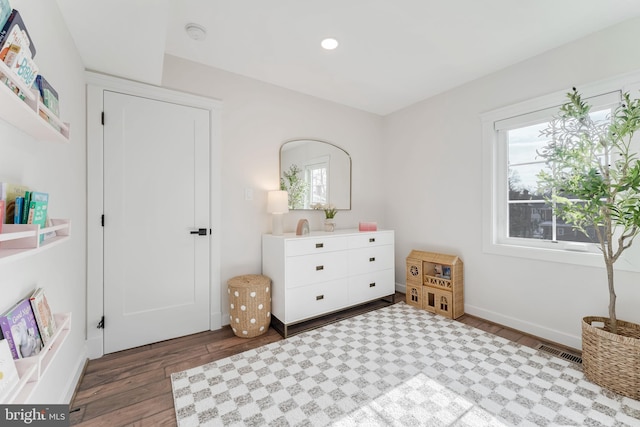
{"type": "MultiPolygon", "coordinates": [[[[391,172],[384,166],[381,117],[173,56],[165,57],[162,85],[222,101],[222,230],[213,233],[222,234],[223,313],[227,280],[262,269],[261,235],[271,232],[266,193],[279,188],[283,142],[319,139],[351,155],[352,210],[338,213],[338,228],[356,228],[359,221],[393,227],[381,191],[391,172]],[[245,200],[245,189],[253,190],[253,200],[245,200]]],[[[300,218],[320,230],[324,214],[291,211],[284,215],[285,232],[295,231],[300,218]]]]}

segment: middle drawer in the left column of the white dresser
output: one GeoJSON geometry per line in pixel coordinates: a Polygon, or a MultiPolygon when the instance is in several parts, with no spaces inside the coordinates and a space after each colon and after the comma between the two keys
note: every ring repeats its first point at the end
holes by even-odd
{"type": "Polygon", "coordinates": [[[285,259],[286,287],[297,288],[312,283],[347,277],[346,252],[326,252],[285,259]]]}

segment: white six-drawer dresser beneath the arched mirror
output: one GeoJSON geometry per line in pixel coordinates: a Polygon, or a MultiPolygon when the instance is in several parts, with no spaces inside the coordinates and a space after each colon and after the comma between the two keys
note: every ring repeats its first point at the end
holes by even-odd
{"type": "Polygon", "coordinates": [[[272,280],[272,325],[288,327],[395,295],[393,230],[336,230],[262,237],[262,274],[272,280]]]}

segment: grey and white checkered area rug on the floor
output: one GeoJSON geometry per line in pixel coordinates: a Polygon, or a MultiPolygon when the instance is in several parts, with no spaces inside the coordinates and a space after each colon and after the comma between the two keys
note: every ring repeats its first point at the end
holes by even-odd
{"type": "Polygon", "coordinates": [[[404,303],[171,377],[187,426],[639,426],[581,366],[404,303]]]}

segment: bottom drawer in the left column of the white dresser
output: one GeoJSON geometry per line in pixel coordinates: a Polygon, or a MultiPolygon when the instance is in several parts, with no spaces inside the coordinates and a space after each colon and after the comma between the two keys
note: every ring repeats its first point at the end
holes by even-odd
{"type": "Polygon", "coordinates": [[[347,306],[346,278],[287,291],[285,323],[319,316],[347,306]]]}

